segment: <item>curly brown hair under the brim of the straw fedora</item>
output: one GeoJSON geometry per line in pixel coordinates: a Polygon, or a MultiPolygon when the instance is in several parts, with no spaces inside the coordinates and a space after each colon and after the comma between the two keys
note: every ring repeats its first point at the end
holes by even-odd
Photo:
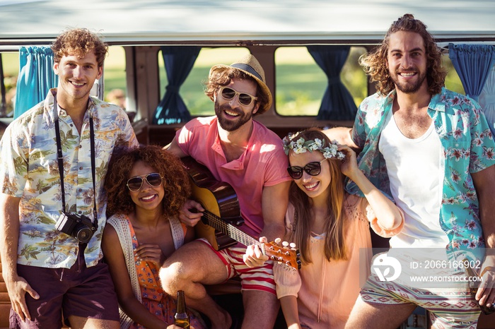
{"type": "MultiPolygon", "coordinates": [[[[262,92],[260,85],[258,85],[257,81],[248,74],[244,73],[243,71],[238,70],[237,68],[226,68],[224,70],[215,71],[209,77],[209,79],[204,83],[205,85],[204,94],[208,96],[210,100],[214,101],[214,95],[219,90],[219,88],[231,83],[232,79],[250,80],[256,84],[255,96],[257,96],[258,99],[255,100],[255,102],[260,104],[260,108],[262,107],[261,104],[267,104],[269,102],[269,97],[265,95],[264,92],[262,92]]],[[[259,111],[256,112],[254,115],[257,114],[259,114],[259,111]]]]}

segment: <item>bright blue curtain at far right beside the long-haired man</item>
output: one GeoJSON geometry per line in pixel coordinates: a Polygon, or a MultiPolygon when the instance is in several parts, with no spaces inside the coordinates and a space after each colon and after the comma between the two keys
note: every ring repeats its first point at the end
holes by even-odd
{"type": "Polygon", "coordinates": [[[495,46],[450,43],[448,56],[459,75],[466,95],[478,100],[491,66],[495,63],[495,46]]]}

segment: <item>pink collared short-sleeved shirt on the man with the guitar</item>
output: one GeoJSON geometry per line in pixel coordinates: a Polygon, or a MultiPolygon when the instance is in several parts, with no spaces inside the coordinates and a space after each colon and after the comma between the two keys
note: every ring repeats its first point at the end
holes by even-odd
{"type": "Polygon", "coordinates": [[[189,121],[177,131],[175,139],[182,152],[204,164],[215,179],[233,187],[245,220],[242,230],[252,237],[259,237],[264,227],[263,187],[291,180],[287,173],[289,162],[279,136],[253,121],[248,147],[243,155],[231,162],[227,162],[220,145],[216,116],[189,121]]]}

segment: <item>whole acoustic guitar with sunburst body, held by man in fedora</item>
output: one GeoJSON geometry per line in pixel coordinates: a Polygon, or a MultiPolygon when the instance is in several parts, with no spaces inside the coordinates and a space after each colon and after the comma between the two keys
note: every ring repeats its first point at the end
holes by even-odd
{"type": "Polygon", "coordinates": [[[198,238],[207,239],[216,250],[234,246],[238,242],[245,246],[257,244],[272,260],[301,268],[298,249],[280,246],[273,241],[262,244],[240,229],[244,219],[240,216],[237,194],[230,184],[217,181],[208,168],[192,157],[182,157],[181,160],[192,182],[192,199],[201,203],[205,209],[202,220],[194,227],[198,238]]]}

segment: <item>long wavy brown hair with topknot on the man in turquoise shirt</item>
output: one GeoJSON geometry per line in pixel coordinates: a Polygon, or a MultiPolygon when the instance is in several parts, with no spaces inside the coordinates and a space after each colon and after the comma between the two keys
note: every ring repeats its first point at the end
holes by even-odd
{"type": "Polygon", "coordinates": [[[441,49],[436,45],[433,36],[426,30],[426,25],[421,20],[414,19],[414,16],[410,13],[395,20],[390,25],[380,47],[369,54],[363,54],[359,58],[359,64],[363,66],[366,74],[370,76],[371,82],[377,82],[380,94],[387,95],[392,91],[395,88],[395,84],[390,78],[387,55],[390,35],[399,31],[418,33],[423,38],[426,49],[428,92],[430,95],[438,94],[441,92],[443,85],[445,85],[445,76],[447,75],[446,69],[442,66],[441,49]]]}

